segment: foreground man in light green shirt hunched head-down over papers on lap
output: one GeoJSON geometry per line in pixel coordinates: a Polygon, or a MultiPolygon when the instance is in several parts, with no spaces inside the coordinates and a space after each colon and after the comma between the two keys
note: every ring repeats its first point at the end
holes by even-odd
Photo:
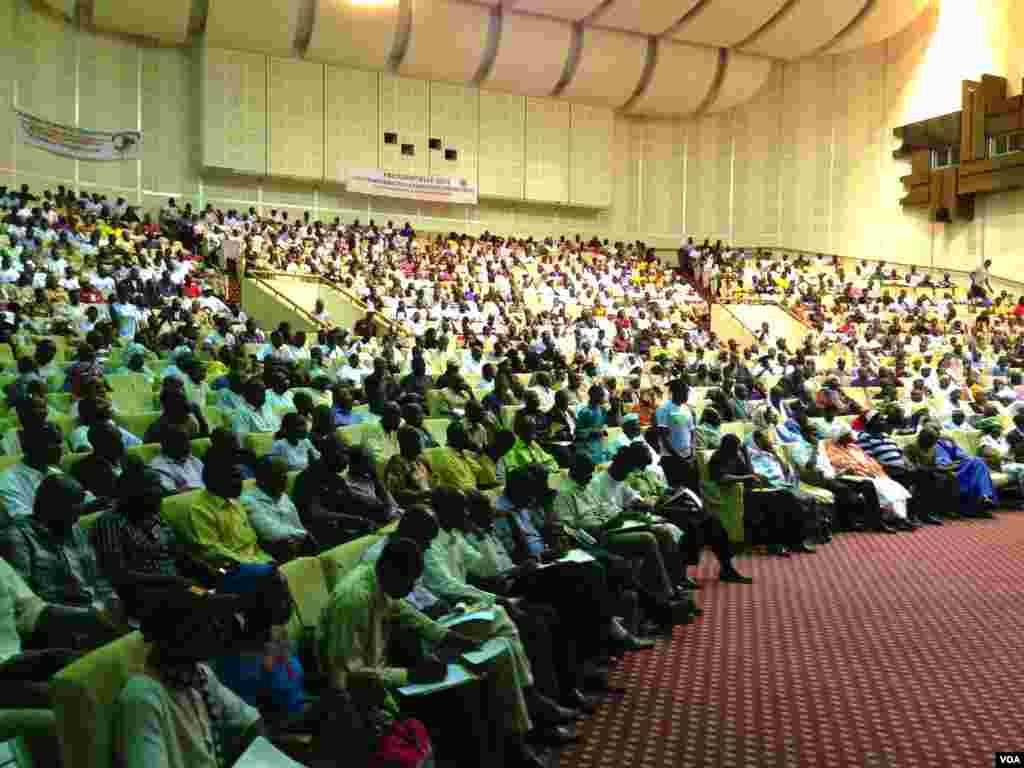
{"type": "MultiPolygon", "coordinates": [[[[388,636],[398,625],[433,645],[441,659],[455,659],[475,643],[428,618],[402,600],[423,572],[423,552],[409,539],[389,539],[376,562],[359,563],[341,578],[321,615],[316,645],[332,687],[348,690],[360,685],[397,688],[409,683],[444,679],[445,666],[427,658],[412,669],[388,663],[388,636]]],[[[540,766],[523,736],[531,723],[518,681],[502,674],[511,665],[500,665],[498,695],[503,699],[505,725],[514,746],[513,764],[540,766]]],[[[387,706],[394,708],[388,697],[387,706]]]]}

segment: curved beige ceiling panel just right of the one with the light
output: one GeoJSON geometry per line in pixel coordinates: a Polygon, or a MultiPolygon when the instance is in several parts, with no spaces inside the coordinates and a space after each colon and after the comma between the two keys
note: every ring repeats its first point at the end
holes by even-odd
{"type": "Polygon", "coordinates": [[[487,45],[490,11],[454,0],[415,0],[402,75],[466,83],[487,45]]]}

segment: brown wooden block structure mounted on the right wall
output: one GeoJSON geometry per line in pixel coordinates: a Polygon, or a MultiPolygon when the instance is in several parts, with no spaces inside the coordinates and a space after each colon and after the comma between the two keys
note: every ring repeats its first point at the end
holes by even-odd
{"type": "Polygon", "coordinates": [[[910,173],[900,179],[906,189],[900,205],[928,208],[937,221],[972,220],[976,195],[1024,186],[1024,151],[990,153],[991,138],[1019,131],[1024,98],[1007,98],[1006,78],[965,80],[959,112],[894,129],[903,143],[893,156],[910,160],[910,173]],[[949,146],[959,148],[959,164],[933,168],[933,151],[949,146]]]}

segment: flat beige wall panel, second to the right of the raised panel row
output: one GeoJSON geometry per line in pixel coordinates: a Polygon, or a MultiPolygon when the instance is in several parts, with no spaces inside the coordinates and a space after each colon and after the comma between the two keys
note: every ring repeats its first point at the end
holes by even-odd
{"type": "Polygon", "coordinates": [[[686,134],[680,123],[646,125],[638,215],[641,231],[682,237],[685,155],[686,134]]]}

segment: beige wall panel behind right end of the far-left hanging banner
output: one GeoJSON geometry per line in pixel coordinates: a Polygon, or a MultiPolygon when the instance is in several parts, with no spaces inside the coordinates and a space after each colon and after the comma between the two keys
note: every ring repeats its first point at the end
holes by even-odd
{"type": "MultiPolygon", "coordinates": [[[[138,128],[140,55],[131,43],[93,35],[80,37],[79,125],[108,131],[138,128]]],[[[83,160],[79,162],[79,177],[83,184],[130,189],[135,197],[138,164],[83,160]]]]}

